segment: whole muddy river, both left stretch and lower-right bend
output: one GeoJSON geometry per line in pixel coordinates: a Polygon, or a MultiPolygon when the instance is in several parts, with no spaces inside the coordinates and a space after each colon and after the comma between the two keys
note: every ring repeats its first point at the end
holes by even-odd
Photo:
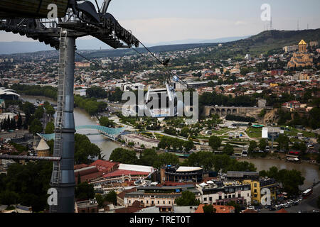
{"type": "MultiPolygon", "coordinates": [[[[30,101],[31,103],[36,103],[37,99],[42,101],[49,101],[51,104],[56,104],[53,99],[48,99],[41,96],[21,96],[22,99],[30,101]]],[[[91,118],[84,110],[75,108],[75,126],[84,126],[84,125],[95,125],[97,122],[95,119],[91,118]]],[[[92,131],[80,131],[79,133],[87,134],[92,133],[92,131]]],[[[115,148],[121,148],[119,143],[114,143],[112,140],[109,140],[102,135],[90,135],[88,136],[92,143],[95,143],[101,150],[102,156],[105,155],[105,160],[109,160],[112,151],[115,148]]],[[[304,185],[302,189],[310,187],[314,182],[319,182],[320,180],[320,171],[318,166],[311,165],[306,162],[300,164],[285,162],[283,160],[268,160],[268,159],[242,159],[242,161],[252,162],[257,167],[257,171],[269,170],[270,167],[275,166],[279,170],[299,170],[304,176],[304,185]]]]}

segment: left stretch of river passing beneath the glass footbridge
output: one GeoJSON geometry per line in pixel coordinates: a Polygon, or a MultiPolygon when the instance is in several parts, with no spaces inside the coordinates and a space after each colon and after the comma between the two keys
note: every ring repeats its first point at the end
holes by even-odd
{"type": "MultiPolygon", "coordinates": [[[[25,101],[29,101],[33,104],[36,104],[38,100],[41,101],[48,101],[50,104],[56,104],[56,101],[53,99],[49,99],[46,97],[41,96],[21,96],[21,99],[25,101]]],[[[75,116],[75,126],[87,126],[87,125],[96,125],[97,122],[95,119],[91,118],[89,114],[87,114],[84,110],[75,108],[74,111],[75,116]]],[[[93,131],[79,131],[80,134],[87,134],[92,133],[93,131]]],[[[93,132],[94,133],[94,132],[93,132]]],[[[122,148],[119,143],[115,143],[108,138],[105,138],[102,135],[89,135],[88,138],[90,139],[91,143],[95,143],[101,150],[102,150],[102,157],[105,155],[105,160],[109,160],[112,151],[116,148],[122,148]]]]}

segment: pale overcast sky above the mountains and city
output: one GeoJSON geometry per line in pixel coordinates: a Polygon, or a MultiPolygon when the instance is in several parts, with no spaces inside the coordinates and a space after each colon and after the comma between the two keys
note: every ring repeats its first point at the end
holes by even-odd
{"type": "MultiPolygon", "coordinates": [[[[266,26],[262,4],[271,6],[274,29],[297,30],[298,20],[301,30],[320,28],[319,0],[112,0],[109,12],[142,42],[160,43],[255,35],[266,26]]],[[[0,41],[33,40],[1,32],[0,41]]]]}

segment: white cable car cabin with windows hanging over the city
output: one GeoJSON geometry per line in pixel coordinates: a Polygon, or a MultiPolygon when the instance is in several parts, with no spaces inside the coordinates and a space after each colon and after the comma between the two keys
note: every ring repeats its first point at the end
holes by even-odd
{"type": "Polygon", "coordinates": [[[177,106],[176,92],[169,84],[166,84],[165,88],[149,89],[144,100],[144,111],[153,118],[177,116],[177,106]]]}

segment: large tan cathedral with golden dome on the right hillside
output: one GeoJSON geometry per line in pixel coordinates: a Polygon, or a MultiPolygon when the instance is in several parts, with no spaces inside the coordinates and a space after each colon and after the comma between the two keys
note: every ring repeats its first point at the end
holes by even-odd
{"type": "Polygon", "coordinates": [[[306,42],[301,40],[298,44],[299,52],[294,52],[293,57],[288,62],[287,67],[307,67],[313,65],[313,59],[306,50],[306,42]]]}

